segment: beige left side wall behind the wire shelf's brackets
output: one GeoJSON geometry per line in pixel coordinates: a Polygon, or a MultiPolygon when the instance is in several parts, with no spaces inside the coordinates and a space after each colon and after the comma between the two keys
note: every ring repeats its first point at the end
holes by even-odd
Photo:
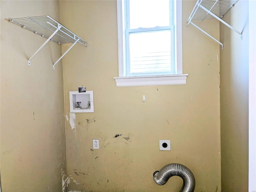
{"type": "Polygon", "coordinates": [[[7,18],[49,14],[59,20],[58,1],[1,4],[2,192],[60,192],[66,174],[61,46],[10,23],[7,18]]]}

